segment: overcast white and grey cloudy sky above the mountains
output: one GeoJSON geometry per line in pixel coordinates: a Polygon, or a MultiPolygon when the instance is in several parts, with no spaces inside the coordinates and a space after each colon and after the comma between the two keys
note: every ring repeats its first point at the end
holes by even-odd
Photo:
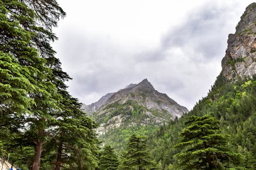
{"type": "Polygon", "coordinates": [[[54,29],[70,93],[91,104],[147,78],[193,108],[221,71],[228,34],[249,0],[61,0],[54,29]]]}

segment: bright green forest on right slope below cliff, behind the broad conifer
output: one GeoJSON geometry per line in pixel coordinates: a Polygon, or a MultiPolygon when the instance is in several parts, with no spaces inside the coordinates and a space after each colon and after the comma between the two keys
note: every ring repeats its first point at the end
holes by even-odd
{"type": "MultiPolygon", "coordinates": [[[[201,99],[186,115],[179,120],[171,121],[160,127],[154,135],[149,137],[152,154],[156,162],[162,160],[162,165],[167,168],[174,164],[172,158],[179,153],[174,146],[181,140],[179,133],[185,128],[185,120],[188,116],[214,116],[220,120],[220,131],[230,135],[228,147],[234,152],[245,156],[241,166],[247,169],[255,169],[255,127],[256,127],[256,81],[252,79],[228,82],[219,76],[208,95],[201,99]]],[[[177,167],[174,167],[177,169],[177,167]]]]}

